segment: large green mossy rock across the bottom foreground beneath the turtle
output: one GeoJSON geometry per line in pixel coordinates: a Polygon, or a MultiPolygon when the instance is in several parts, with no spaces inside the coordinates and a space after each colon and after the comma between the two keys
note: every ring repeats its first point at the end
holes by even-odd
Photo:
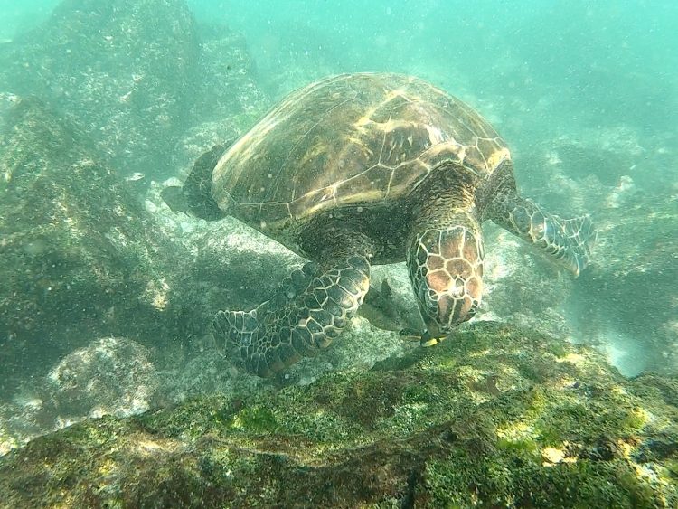
{"type": "Polygon", "coordinates": [[[20,506],[675,507],[678,380],[481,322],[304,387],[94,419],[0,460],[20,506]]]}

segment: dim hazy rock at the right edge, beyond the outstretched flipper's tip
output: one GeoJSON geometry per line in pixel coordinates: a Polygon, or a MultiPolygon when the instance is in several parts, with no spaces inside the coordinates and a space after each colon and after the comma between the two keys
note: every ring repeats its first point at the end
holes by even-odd
{"type": "Polygon", "coordinates": [[[601,213],[597,263],[572,303],[579,326],[636,375],[678,373],[678,187],[601,213]]]}

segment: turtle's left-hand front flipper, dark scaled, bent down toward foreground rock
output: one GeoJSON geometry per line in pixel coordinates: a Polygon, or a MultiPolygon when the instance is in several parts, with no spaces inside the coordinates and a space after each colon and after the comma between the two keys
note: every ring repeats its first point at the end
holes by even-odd
{"type": "Polygon", "coordinates": [[[332,343],[355,315],[370,287],[370,263],[350,256],[322,269],[306,263],[256,309],[220,311],[217,346],[259,376],[270,376],[332,343]]]}

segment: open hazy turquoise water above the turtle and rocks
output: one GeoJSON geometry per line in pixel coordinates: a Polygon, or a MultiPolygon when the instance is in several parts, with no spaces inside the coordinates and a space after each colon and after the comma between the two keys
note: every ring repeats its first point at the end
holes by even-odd
{"type": "MultiPolygon", "coordinates": [[[[551,118],[531,119],[537,133],[612,122],[639,127],[644,136],[674,128],[678,6],[672,2],[188,4],[198,20],[245,35],[264,82],[275,82],[276,69],[289,65],[305,66],[309,77],[399,71],[476,103],[504,96],[558,99],[551,118]]],[[[35,26],[54,5],[0,1],[0,40],[35,26]]],[[[276,91],[296,85],[278,83],[276,91]]],[[[503,133],[513,143],[530,143],[534,134],[510,126],[503,133]]]]}

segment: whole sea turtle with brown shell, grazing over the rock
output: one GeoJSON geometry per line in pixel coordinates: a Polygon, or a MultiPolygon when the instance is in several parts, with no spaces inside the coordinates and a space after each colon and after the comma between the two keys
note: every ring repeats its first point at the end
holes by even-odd
{"type": "Polygon", "coordinates": [[[311,260],[270,300],[213,320],[217,344],[260,376],[329,345],[363,303],[372,264],[407,261],[421,342],[435,344],[480,304],[482,222],[575,275],[595,236],[588,216],[563,220],[518,194],[508,148],[474,109],[391,73],[292,92],[164,196],[204,219],[232,215],[311,260]]]}

